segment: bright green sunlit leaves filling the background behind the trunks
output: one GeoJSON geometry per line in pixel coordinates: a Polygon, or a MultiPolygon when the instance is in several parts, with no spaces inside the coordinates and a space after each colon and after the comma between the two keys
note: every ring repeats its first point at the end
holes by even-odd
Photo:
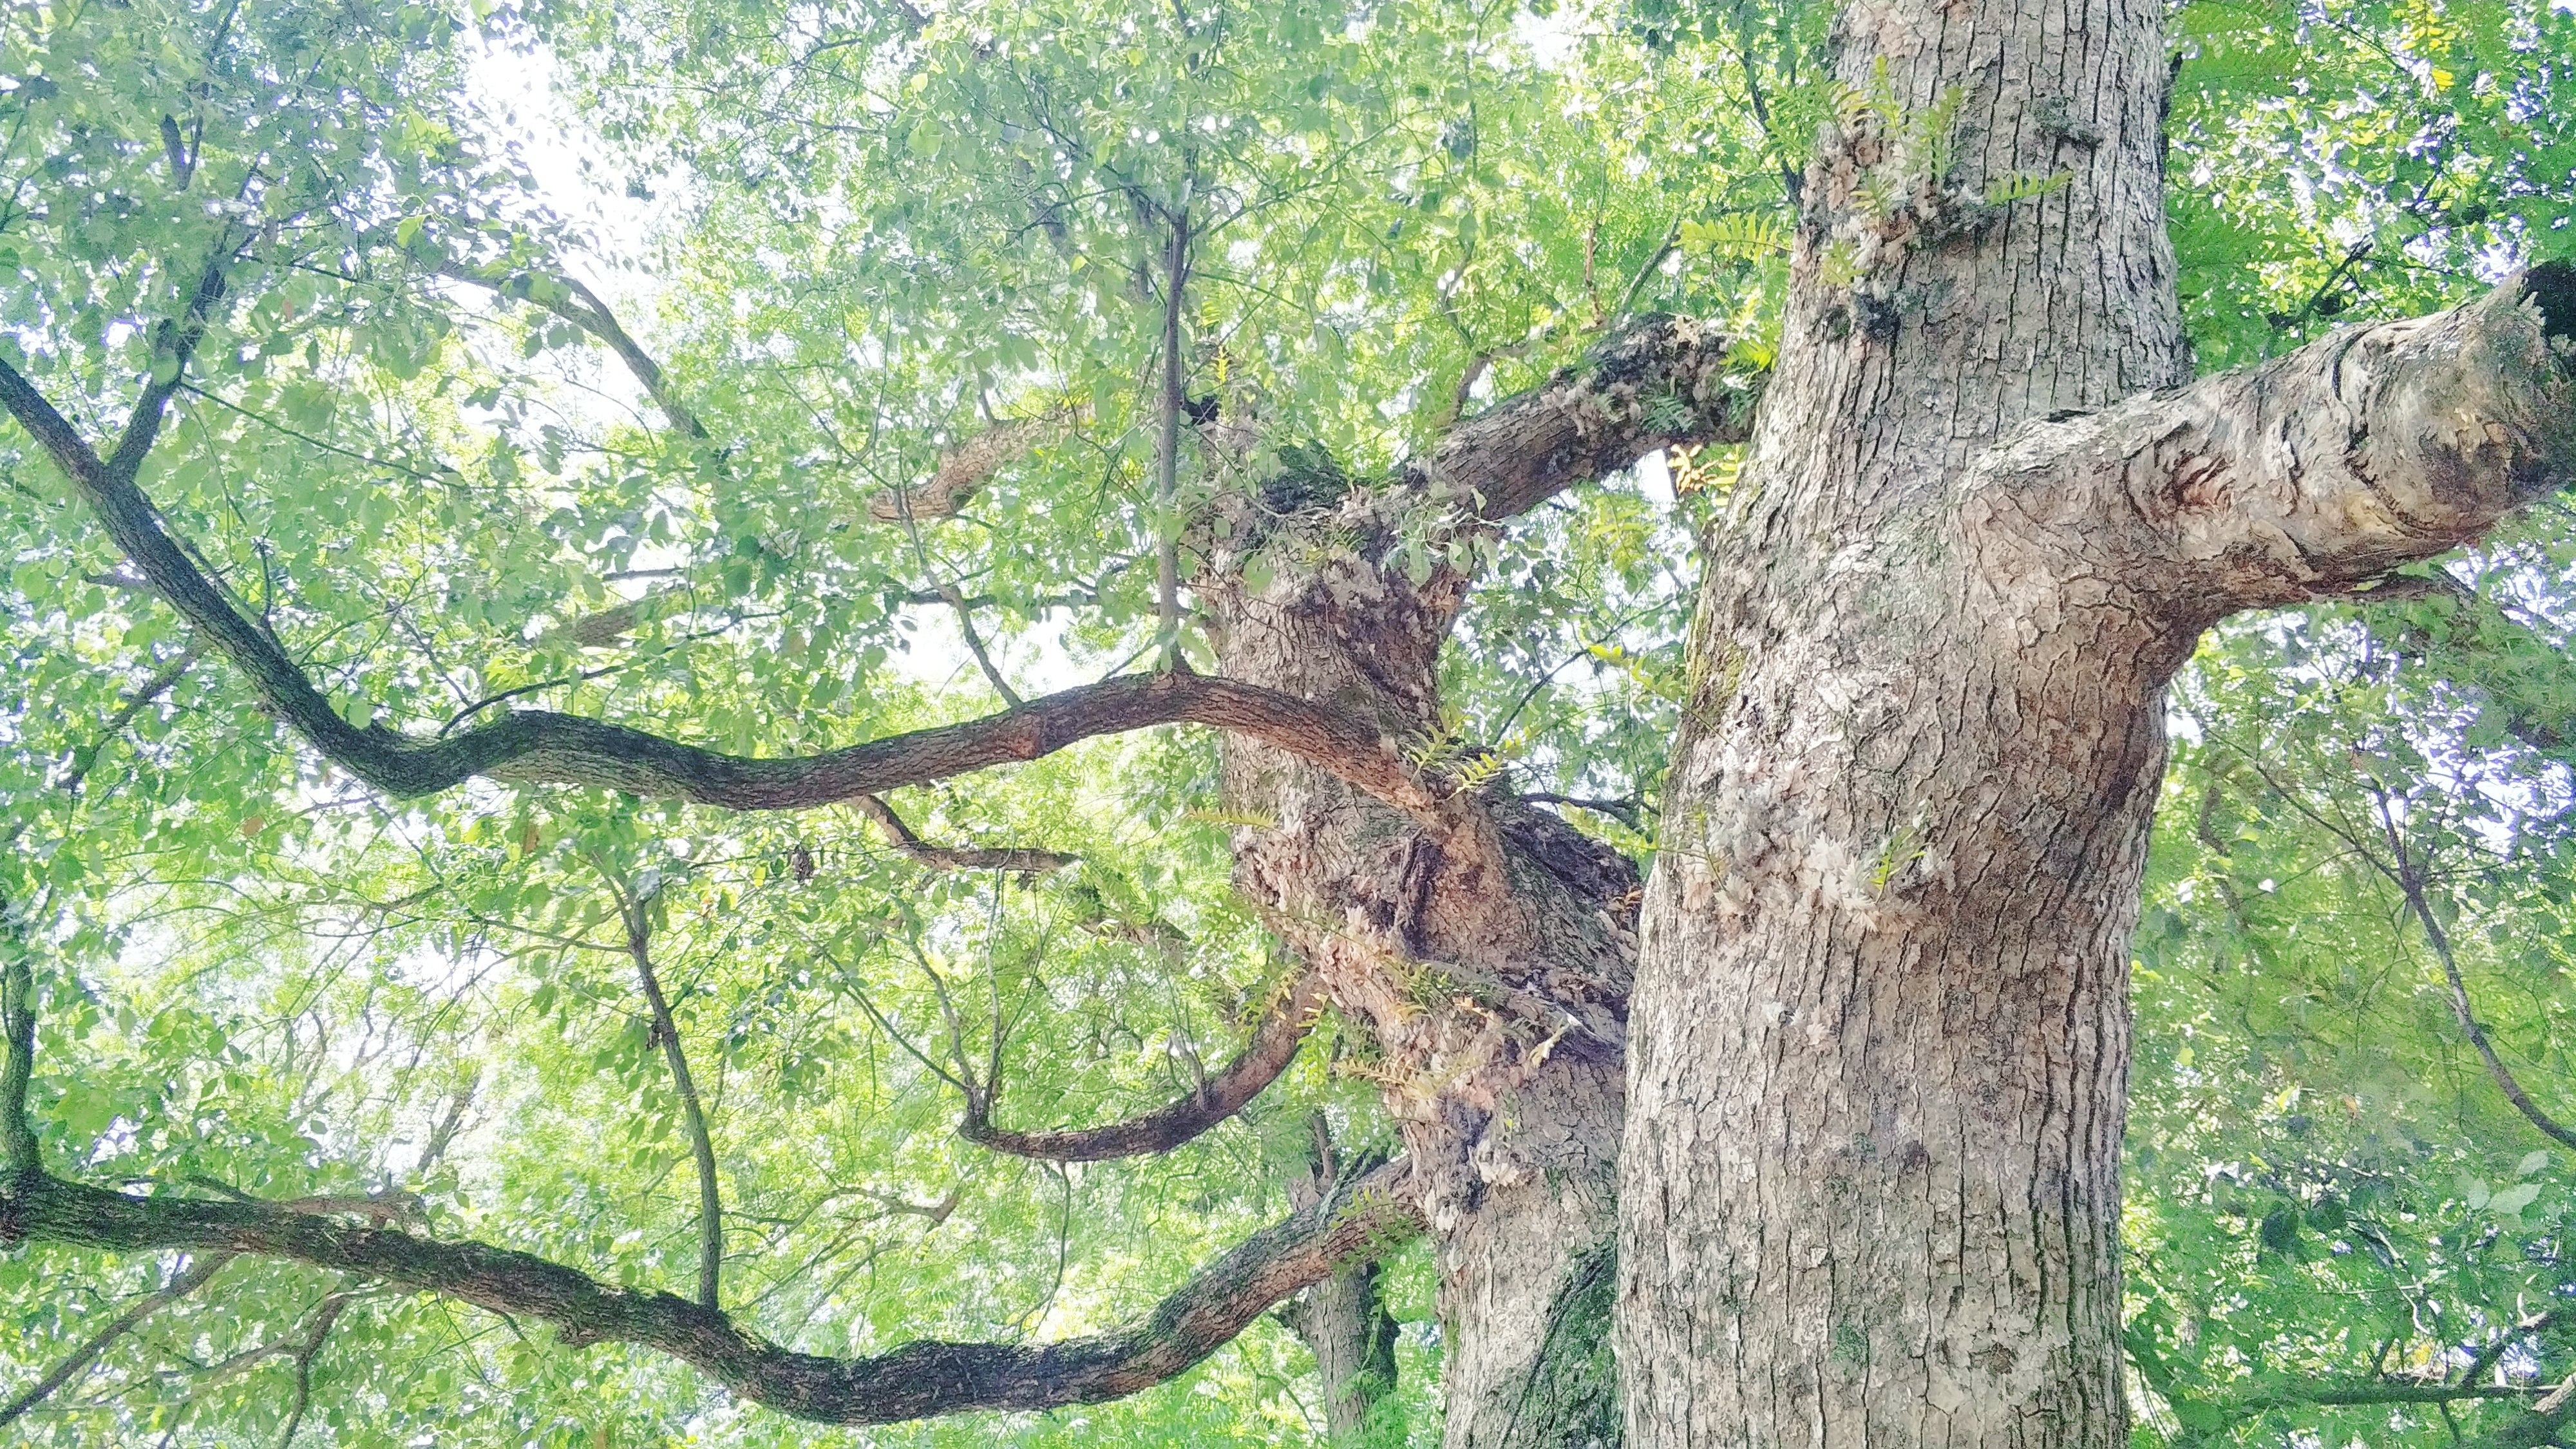
{"type": "MultiPolygon", "coordinates": [[[[1808,137],[1855,103],[1819,77],[1824,26],[1765,0],[21,3],[0,361],[90,438],[175,392],[139,487],[358,730],[541,704],[811,753],[1131,668],[1157,552],[1216,487],[1368,487],[1618,317],[1726,320],[1765,366],[1808,137]],[[531,85],[580,116],[569,150],[510,113],[531,85]],[[183,348],[209,258],[224,304],[183,348]],[[1172,327],[1216,425],[1167,490],[1172,327]]],[[[2187,0],[2174,36],[2205,369],[2576,255],[2568,13],[2187,0]]],[[[1453,730],[1414,748],[1646,861],[1731,467],[1646,464],[1494,544],[1453,730]]],[[[2136,972],[2141,1441],[2555,1431],[2527,1405],[2576,1374],[2576,1160],[2506,1104],[2455,977],[2576,1116],[2568,523],[2543,508],[2403,601],[2226,627],[2174,694],[2136,972]]],[[[1115,1325],[1275,1220],[1319,1122],[1388,1147],[1370,1047],[1329,1018],[1157,1158],[956,1134],[979,1093],[1020,1127],[1188,1096],[1293,990],[1226,887],[1244,822],[1203,732],[891,792],[909,843],[855,807],[394,799],[263,712],[18,425],[0,565],[0,951],[33,982],[54,1171],[412,1194],[386,1201],[443,1238],[685,1292],[703,1111],[724,1305],[873,1354],[1115,1325]]],[[[1373,1434],[1437,1441],[1432,1266],[1388,1261],[1406,1330],[1373,1434]]],[[[1273,1320],[1131,1400],[817,1431],[319,1269],[180,1274],[0,1256],[8,1395],[193,1289],[13,1428],[1291,1444],[1321,1415],[1273,1320]]]]}

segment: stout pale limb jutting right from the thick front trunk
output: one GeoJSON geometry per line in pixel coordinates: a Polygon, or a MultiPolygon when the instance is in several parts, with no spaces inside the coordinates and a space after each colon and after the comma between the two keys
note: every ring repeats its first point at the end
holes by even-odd
{"type": "Polygon", "coordinates": [[[2576,477],[2576,266],[2040,423],[1981,508],[2192,621],[2347,596],[2576,477]]]}

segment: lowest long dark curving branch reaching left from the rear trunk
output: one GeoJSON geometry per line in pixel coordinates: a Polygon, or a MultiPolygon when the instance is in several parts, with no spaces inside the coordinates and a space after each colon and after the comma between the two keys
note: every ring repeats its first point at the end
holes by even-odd
{"type": "Polygon", "coordinates": [[[0,1194],[0,1240],[291,1258],[551,1323],[572,1346],[618,1341],[670,1354],[752,1403],[819,1423],[899,1423],[1131,1395],[1206,1359],[1270,1305],[1345,1261],[1417,1230],[1409,1178],[1396,1163],[1255,1232],[1126,1328],[1056,1343],[917,1341],[868,1359],[824,1359],[781,1348],[685,1297],[611,1287],[487,1243],[443,1243],[258,1201],[126,1196],[41,1173],[18,1176],[0,1194]]]}

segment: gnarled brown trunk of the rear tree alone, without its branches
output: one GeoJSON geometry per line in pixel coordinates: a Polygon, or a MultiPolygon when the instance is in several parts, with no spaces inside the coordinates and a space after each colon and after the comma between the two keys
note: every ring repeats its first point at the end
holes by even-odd
{"type": "MultiPolygon", "coordinates": [[[[1200,601],[1221,590],[1200,588],[1200,601]]],[[[1229,673],[1432,727],[1432,657],[1458,580],[1425,590],[1358,557],[1231,596],[1229,673]]],[[[1275,750],[1226,745],[1236,884],[1378,1047],[1373,1073],[1440,1243],[1450,1446],[1584,1444],[1607,1418],[1607,1315],[1548,1336],[1587,1248],[1615,1232],[1618,1052],[1633,869],[1517,802],[1425,825],[1275,750]],[[1504,825],[1510,822],[1510,828],[1504,825]],[[1602,1356],[1597,1403],[1522,1405],[1543,1359],[1602,1356]],[[1515,1426],[1515,1408],[1525,1423],[1515,1426]]]]}

